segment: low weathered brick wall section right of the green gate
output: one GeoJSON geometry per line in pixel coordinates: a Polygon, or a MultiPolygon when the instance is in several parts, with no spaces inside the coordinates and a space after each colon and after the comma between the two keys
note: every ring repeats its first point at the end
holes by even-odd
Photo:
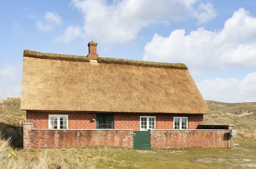
{"type": "Polygon", "coordinates": [[[228,146],[229,130],[151,130],[151,148],[228,146]]]}

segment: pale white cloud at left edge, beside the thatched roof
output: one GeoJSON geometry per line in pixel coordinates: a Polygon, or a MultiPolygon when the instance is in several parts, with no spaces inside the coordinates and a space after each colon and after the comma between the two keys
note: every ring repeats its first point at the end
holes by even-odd
{"type": "Polygon", "coordinates": [[[22,68],[5,65],[0,67],[0,98],[21,96],[22,68]]]}

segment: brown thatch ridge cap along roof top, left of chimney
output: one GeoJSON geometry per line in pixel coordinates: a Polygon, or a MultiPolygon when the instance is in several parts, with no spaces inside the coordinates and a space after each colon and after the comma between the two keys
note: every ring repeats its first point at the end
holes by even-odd
{"type": "Polygon", "coordinates": [[[90,62],[90,58],[85,57],[85,56],[64,55],[64,54],[54,54],[54,53],[41,53],[41,52],[30,51],[30,50],[24,50],[23,56],[41,58],[41,59],[90,62]]]}

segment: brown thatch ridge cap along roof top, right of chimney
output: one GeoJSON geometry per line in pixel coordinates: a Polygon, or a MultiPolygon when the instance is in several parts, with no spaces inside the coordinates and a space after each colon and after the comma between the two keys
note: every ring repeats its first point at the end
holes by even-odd
{"type": "Polygon", "coordinates": [[[107,57],[99,57],[97,61],[99,63],[106,63],[106,64],[121,64],[121,65],[154,67],[154,68],[171,68],[171,69],[188,70],[188,67],[185,64],[169,64],[164,62],[116,59],[116,58],[107,58],[107,57]]]}

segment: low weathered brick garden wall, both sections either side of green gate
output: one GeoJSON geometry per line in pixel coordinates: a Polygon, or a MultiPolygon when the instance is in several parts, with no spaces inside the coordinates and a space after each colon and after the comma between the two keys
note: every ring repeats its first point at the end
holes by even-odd
{"type": "MultiPolygon", "coordinates": [[[[150,139],[151,148],[159,149],[230,146],[229,130],[151,130],[150,139]]],[[[23,124],[24,149],[101,145],[133,148],[133,130],[49,130],[23,124]]]]}

